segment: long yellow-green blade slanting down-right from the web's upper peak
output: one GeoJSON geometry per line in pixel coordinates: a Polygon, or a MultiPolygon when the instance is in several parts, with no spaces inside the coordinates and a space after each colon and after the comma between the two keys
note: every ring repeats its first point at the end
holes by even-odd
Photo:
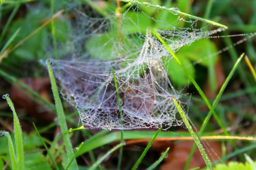
{"type": "Polygon", "coordinates": [[[225,126],[222,124],[220,118],[218,117],[218,115],[216,114],[214,109],[212,108],[212,105],[210,104],[209,100],[207,99],[207,96],[205,96],[204,92],[201,90],[199,85],[196,83],[196,80],[193,79],[192,76],[188,73],[188,71],[185,68],[185,66],[183,65],[183,63],[180,62],[179,58],[176,56],[176,54],[174,52],[172,52],[171,48],[166,44],[166,42],[162,39],[162,37],[160,37],[160,35],[154,29],[152,29],[152,33],[154,33],[154,35],[160,40],[160,42],[162,42],[162,44],[164,46],[166,46],[166,49],[168,50],[168,52],[170,52],[171,56],[174,57],[175,61],[180,65],[181,69],[183,69],[185,74],[187,74],[188,79],[196,87],[196,90],[199,92],[200,96],[203,98],[205,104],[210,109],[210,111],[213,113],[213,116],[214,116],[215,120],[217,121],[218,125],[220,125],[221,129],[224,131],[224,134],[228,136],[229,135],[228,131],[226,131],[225,126]]]}

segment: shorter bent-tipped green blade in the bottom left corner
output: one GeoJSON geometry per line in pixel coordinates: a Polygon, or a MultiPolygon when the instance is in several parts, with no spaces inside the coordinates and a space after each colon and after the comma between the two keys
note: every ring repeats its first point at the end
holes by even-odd
{"type": "Polygon", "coordinates": [[[16,155],[15,155],[15,150],[13,147],[13,141],[11,140],[11,136],[10,136],[9,132],[7,132],[7,131],[0,131],[0,136],[1,135],[4,135],[8,140],[8,148],[9,148],[9,154],[10,154],[10,158],[11,158],[11,168],[16,170],[16,169],[18,169],[17,159],[16,159],[16,155]]]}

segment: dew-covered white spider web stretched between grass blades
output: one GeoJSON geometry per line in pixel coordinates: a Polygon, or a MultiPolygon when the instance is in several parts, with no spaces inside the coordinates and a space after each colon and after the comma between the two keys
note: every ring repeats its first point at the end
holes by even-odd
{"type": "Polygon", "coordinates": [[[183,107],[188,102],[172,86],[166,73],[172,56],[152,35],[151,29],[177,52],[182,46],[208,38],[222,28],[204,31],[204,28],[197,28],[197,20],[185,20],[183,16],[157,8],[151,10],[155,10],[154,16],[131,5],[122,12],[121,20],[111,10],[102,14],[103,17],[87,5],[73,10],[75,19],[69,22],[72,33],[59,50],[61,56],[69,57],[51,59],[51,65],[63,98],[77,108],[86,128],[163,126],[168,129],[183,124],[176,118],[171,96],[183,107]],[[170,14],[175,18],[171,23],[166,19],[170,14]],[[123,125],[112,68],[122,101],[123,125]]]}

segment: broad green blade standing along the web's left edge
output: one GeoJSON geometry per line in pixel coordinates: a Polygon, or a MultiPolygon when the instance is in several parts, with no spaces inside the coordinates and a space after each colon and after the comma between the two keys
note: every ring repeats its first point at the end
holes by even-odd
{"type": "MultiPolygon", "coordinates": [[[[64,114],[63,107],[62,107],[62,104],[61,104],[59,92],[57,90],[57,84],[55,82],[52,67],[49,63],[49,59],[47,59],[47,66],[48,66],[49,78],[50,78],[51,84],[52,84],[52,92],[53,92],[53,97],[54,97],[54,100],[55,100],[55,106],[56,106],[57,116],[58,116],[58,119],[59,119],[60,130],[61,130],[61,133],[64,134],[66,131],[68,131],[68,126],[67,126],[67,123],[65,121],[65,114],[64,114]]],[[[69,139],[69,134],[68,133],[65,134],[63,136],[63,139],[64,139],[64,145],[65,145],[65,148],[66,148],[66,151],[67,151],[67,158],[68,158],[67,162],[70,162],[70,160],[74,156],[74,152],[73,152],[71,140],[69,139]]],[[[78,169],[76,160],[73,160],[71,168],[72,169],[78,169]]]]}

